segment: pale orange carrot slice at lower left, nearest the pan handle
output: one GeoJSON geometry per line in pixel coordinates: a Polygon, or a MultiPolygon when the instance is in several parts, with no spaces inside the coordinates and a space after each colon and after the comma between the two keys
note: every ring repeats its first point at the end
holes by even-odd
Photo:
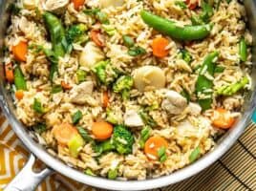
{"type": "Polygon", "coordinates": [[[74,126],[69,123],[61,123],[53,127],[53,137],[63,145],[67,145],[69,141],[74,138],[78,132],[74,126]]]}

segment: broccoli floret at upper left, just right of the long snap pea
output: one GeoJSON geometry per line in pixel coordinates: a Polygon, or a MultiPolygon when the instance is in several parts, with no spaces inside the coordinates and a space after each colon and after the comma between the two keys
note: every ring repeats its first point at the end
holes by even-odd
{"type": "Polygon", "coordinates": [[[86,25],[73,25],[66,33],[68,43],[72,44],[75,42],[81,44],[86,42],[88,40],[88,36],[85,34],[87,30],[86,25]]]}

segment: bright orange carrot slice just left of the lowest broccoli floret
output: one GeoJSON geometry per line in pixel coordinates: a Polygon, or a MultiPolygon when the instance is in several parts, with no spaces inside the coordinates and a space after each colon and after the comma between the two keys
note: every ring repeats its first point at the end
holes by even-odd
{"type": "Polygon", "coordinates": [[[92,127],[92,132],[96,139],[104,140],[111,137],[113,125],[105,121],[95,122],[92,127]]]}

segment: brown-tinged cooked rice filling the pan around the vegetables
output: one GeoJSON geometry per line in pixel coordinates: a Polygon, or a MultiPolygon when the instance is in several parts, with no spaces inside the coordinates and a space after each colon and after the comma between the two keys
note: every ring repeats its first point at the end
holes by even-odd
{"type": "MultiPolygon", "coordinates": [[[[9,50],[5,53],[4,60],[6,64],[13,62],[15,66],[19,65],[27,81],[27,90],[24,91],[23,98],[19,100],[13,96],[16,116],[32,131],[36,130],[38,124],[45,125],[43,133],[39,134],[36,131],[33,133],[37,135],[39,142],[51,155],[57,156],[80,171],[90,170],[96,176],[108,177],[111,170],[117,170],[118,180],[156,178],[168,175],[193,162],[190,156],[195,149],[199,149],[199,156],[203,156],[214,148],[215,137],[224,134],[224,130],[212,125],[212,114],[216,108],[224,108],[231,114],[231,117],[241,116],[245,92],[251,86],[249,76],[251,53],[248,48],[247,59],[241,62],[238,43],[242,36],[245,36],[248,45],[252,43],[252,36],[245,28],[247,18],[242,3],[237,0],[232,0],[229,4],[222,1],[219,9],[214,8],[213,15],[210,17],[210,23],[214,25],[209,36],[200,41],[186,43],[156,32],[145,24],[140,16],[140,11],[148,10],[175,21],[180,27],[191,25],[190,17],[198,12],[182,9],[176,0],[124,0],[119,7],[106,7],[100,10],[108,18],[109,23],[104,25],[98,23],[93,13],[83,12],[83,10],[98,9],[101,1],[88,0],[81,11],[76,11],[71,3],[55,5],[58,8],[53,13],[58,14],[58,18],[62,19],[66,29],[75,24],[84,24],[89,31],[84,35],[90,42],[92,41],[90,31],[99,32],[101,35],[99,40],[104,39],[105,44],[102,47],[97,47],[96,43],[93,43],[95,50],[90,49],[91,53],[86,54],[87,60],[85,60],[85,63],[95,66],[98,62],[94,63],[92,56],[96,53],[100,54],[98,57],[101,61],[108,60],[111,63],[104,69],[103,75],[107,83],[104,84],[91,66],[81,64],[81,53],[88,45],[87,42],[74,42],[73,51],[59,57],[57,73],[53,75],[52,81],[49,79],[51,62],[43,50],[51,50],[53,45],[42,13],[53,9],[46,5],[46,2],[51,3],[50,1],[53,0],[40,1],[38,5],[29,7],[23,4],[23,1],[16,2],[15,5],[21,10],[18,15],[14,13],[11,15],[11,26],[7,30],[8,35],[5,39],[5,45],[9,50]],[[109,30],[110,34],[106,30],[109,30]],[[133,39],[140,51],[141,49],[144,51],[141,55],[133,56],[128,53],[131,47],[124,45],[123,36],[125,35],[133,39]],[[163,58],[157,58],[152,54],[152,43],[157,37],[164,37],[169,42],[164,49],[167,55],[163,58]],[[16,63],[11,47],[20,41],[28,42],[29,51],[25,62],[16,63]],[[192,60],[189,63],[181,57],[181,49],[190,53],[192,60]],[[223,67],[224,71],[212,75],[208,73],[207,66],[203,69],[201,67],[204,57],[214,51],[219,52],[219,57],[213,62],[223,67]],[[165,86],[157,89],[148,87],[140,91],[136,87],[135,79],[135,85],[128,90],[128,93],[126,92],[129,95],[128,98],[114,91],[115,83],[117,83],[116,75],[130,75],[136,78],[137,69],[144,66],[159,67],[164,75],[165,86]],[[79,81],[78,70],[86,73],[83,76],[83,82],[79,81]],[[199,74],[211,81],[213,88],[204,89],[196,95],[199,74]],[[245,91],[224,97],[216,94],[221,87],[239,81],[244,76],[249,78],[245,91]],[[113,81],[114,79],[116,81],[113,81]],[[80,89],[84,81],[91,83],[83,84],[85,88],[80,89]],[[63,83],[71,88],[53,94],[53,86],[60,87],[63,83]],[[178,96],[166,97],[170,90],[175,91],[178,96]],[[183,100],[184,92],[190,95],[188,100],[190,104],[183,100]],[[106,101],[104,94],[109,96],[107,106],[104,106],[104,101],[106,101]],[[198,98],[211,98],[211,108],[203,112],[197,103],[198,98]],[[38,114],[34,109],[35,99],[40,100],[42,114],[38,114]],[[180,113],[177,112],[179,110],[181,110],[180,113]],[[77,111],[80,111],[81,117],[74,122],[74,114],[77,111]],[[108,148],[106,152],[98,154],[99,151],[96,149],[99,149],[106,140],[98,140],[94,135],[95,122],[107,120],[115,126],[115,134],[116,127],[125,123],[124,117],[127,111],[135,115],[134,123],[135,118],[138,117],[142,118],[144,123],[143,126],[126,127],[134,139],[131,151],[126,154],[120,153],[124,151],[118,150],[118,146],[129,145],[129,140],[125,138],[115,140],[114,135],[107,140],[109,142],[106,144],[114,144],[115,148],[108,148]],[[141,116],[141,112],[147,115],[147,119],[141,116]],[[73,124],[74,128],[78,128],[75,132],[84,138],[77,155],[71,153],[70,143],[60,143],[54,134],[54,128],[61,124],[73,124]],[[148,137],[145,138],[142,135],[142,129],[148,126],[150,126],[150,131],[148,137]],[[152,137],[160,137],[167,142],[167,146],[164,147],[166,159],[160,161],[158,153],[157,155],[154,152],[146,153],[144,145],[141,146],[141,139],[145,138],[144,144],[148,138],[152,137]],[[114,141],[118,144],[115,145],[114,141]]],[[[202,5],[201,1],[199,5],[202,5]]],[[[140,77],[139,80],[142,81],[142,78],[140,77]]],[[[151,83],[151,80],[154,81],[154,76],[145,79],[143,83],[151,83]]],[[[160,80],[160,77],[155,80],[160,80]]],[[[7,86],[15,92],[15,87],[13,87],[7,86]]],[[[149,149],[155,146],[153,143],[149,149]]]]}

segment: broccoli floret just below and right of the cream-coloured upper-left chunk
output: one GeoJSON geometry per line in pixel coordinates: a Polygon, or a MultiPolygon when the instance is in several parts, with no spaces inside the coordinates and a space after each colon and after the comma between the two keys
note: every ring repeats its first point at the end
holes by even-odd
{"type": "Polygon", "coordinates": [[[100,83],[104,85],[111,84],[117,78],[117,71],[112,67],[109,60],[96,63],[93,68],[100,83]]]}

